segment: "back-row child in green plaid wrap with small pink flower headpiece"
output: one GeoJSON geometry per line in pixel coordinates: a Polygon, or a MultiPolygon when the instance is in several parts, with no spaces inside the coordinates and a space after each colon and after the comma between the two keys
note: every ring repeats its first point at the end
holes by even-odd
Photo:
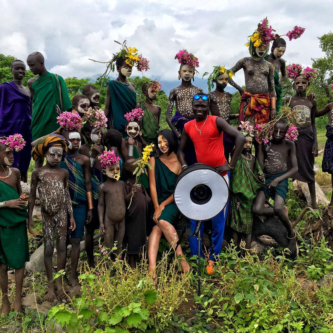
{"type": "Polygon", "coordinates": [[[142,137],[148,145],[155,143],[160,130],[161,107],[155,105],[153,101],[157,99],[157,93],[162,85],[159,81],[146,82],[142,85],[142,93],[146,101],[139,102],[136,108],[141,108],[144,112],[142,118],[142,137]]]}

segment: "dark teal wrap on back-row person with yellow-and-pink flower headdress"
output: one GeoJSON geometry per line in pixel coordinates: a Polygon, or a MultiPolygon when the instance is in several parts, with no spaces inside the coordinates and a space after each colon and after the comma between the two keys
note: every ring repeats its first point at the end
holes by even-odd
{"type": "Polygon", "coordinates": [[[126,113],[135,109],[137,105],[137,94],[128,86],[117,80],[108,81],[108,88],[111,101],[110,114],[112,116],[112,128],[124,134],[127,122],[124,116],[126,113]]]}

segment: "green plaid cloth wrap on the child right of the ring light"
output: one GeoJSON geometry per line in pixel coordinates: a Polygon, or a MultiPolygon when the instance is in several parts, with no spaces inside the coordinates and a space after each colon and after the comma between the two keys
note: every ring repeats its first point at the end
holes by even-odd
{"type": "Polygon", "coordinates": [[[237,232],[251,233],[253,213],[252,206],[257,190],[264,181],[259,179],[262,173],[257,159],[255,159],[253,172],[248,166],[243,155],[240,155],[235,167],[231,170],[231,218],[230,226],[237,232]]]}

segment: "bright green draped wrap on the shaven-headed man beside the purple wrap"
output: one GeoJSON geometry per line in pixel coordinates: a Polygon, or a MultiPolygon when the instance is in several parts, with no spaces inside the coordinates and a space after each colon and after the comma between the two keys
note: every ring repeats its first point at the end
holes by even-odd
{"type": "MultiPolygon", "coordinates": [[[[64,79],[58,75],[61,86],[63,110],[72,109],[72,102],[69,98],[64,79]]],[[[32,140],[36,140],[44,135],[50,134],[59,128],[57,124],[57,106],[61,109],[60,89],[57,77],[47,72],[40,76],[31,86],[33,96],[33,106],[31,115],[32,140]]]]}

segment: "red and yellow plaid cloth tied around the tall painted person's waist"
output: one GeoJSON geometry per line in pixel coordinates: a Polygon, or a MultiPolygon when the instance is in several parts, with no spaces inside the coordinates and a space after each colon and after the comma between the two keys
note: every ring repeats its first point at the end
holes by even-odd
{"type": "Polygon", "coordinates": [[[253,95],[244,90],[240,96],[239,124],[241,121],[250,121],[254,125],[269,122],[269,105],[269,93],[253,95]]]}

